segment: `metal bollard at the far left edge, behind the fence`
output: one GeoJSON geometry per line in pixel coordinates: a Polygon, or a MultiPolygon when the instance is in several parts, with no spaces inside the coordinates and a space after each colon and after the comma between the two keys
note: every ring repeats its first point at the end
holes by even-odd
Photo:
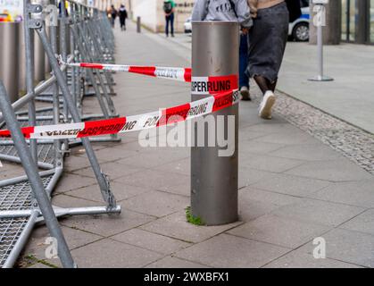
{"type": "Polygon", "coordinates": [[[18,99],[19,63],[17,52],[19,46],[20,23],[0,22],[0,80],[4,82],[11,101],[18,99]]]}

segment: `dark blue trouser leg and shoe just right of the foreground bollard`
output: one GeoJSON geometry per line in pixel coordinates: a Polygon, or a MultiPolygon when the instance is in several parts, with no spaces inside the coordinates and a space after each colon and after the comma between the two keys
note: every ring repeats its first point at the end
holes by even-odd
{"type": "Polygon", "coordinates": [[[249,95],[249,78],[245,73],[248,66],[248,39],[247,35],[240,36],[239,46],[239,88],[242,100],[251,100],[249,95]]]}

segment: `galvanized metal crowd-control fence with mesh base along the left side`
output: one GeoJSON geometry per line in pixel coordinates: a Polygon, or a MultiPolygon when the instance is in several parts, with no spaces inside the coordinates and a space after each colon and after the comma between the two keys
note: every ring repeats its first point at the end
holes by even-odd
{"type": "MultiPolygon", "coordinates": [[[[37,140],[23,139],[20,127],[29,125],[81,122],[117,117],[112,98],[112,73],[68,68],[62,62],[114,61],[114,38],[104,12],[70,2],[70,9],[59,13],[58,3],[24,0],[24,46],[27,94],[13,104],[0,83],[0,127],[12,131],[12,139],[0,139],[0,160],[22,164],[25,176],[0,181],[0,267],[12,267],[29,234],[38,222],[46,223],[57,240],[58,256],[64,267],[74,267],[70,250],[63,238],[56,217],[75,214],[118,214],[107,176],[98,164],[90,139],[37,140]],[[37,37],[51,68],[51,75],[36,87],[35,42],[37,37]],[[83,114],[85,97],[95,96],[102,114],[83,114]],[[37,108],[43,102],[42,108],[37,108]],[[49,105],[49,106],[45,106],[49,105]],[[27,107],[27,109],[26,109],[27,107]],[[63,172],[63,158],[72,145],[82,144],[95,172],[105,206],[60,208],[50,198],[63,172]],[[45,171],[40,172],[39,169],[45,171]]],[[[65,1],[61,1],[65,6],[65,1]]],[[[63,10],[63,9],[62,9],[63,10]]],[[[92,139],[94,140],[94,139],[92,139]]],[[[117,135],[96,140],[116,141],[117,135]]]]}

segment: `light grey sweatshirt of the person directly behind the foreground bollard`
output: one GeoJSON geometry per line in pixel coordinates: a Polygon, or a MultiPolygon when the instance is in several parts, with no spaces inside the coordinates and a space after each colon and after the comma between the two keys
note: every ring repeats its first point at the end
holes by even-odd
{"type": "Polygon", "coordinates": [[[250,28],[253,21],[246,0],[196,0],[192,12],[192,21],[238,21],[242,27],[250,28]]]}

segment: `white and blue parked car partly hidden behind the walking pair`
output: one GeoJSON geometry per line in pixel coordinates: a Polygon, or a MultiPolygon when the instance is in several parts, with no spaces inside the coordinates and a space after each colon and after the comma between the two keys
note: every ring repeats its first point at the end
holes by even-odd
{"type": "MultiPolygon", "coordinates": [[[[289,23],[288,36],[298,42],[307,42],[309,41],[309,0],[300,0],[300,2],[302,16],[292,23],[289,23]]],[[[185,33],[192,33],[191,17],[188,17],[185,22],[185,33]]]]}

